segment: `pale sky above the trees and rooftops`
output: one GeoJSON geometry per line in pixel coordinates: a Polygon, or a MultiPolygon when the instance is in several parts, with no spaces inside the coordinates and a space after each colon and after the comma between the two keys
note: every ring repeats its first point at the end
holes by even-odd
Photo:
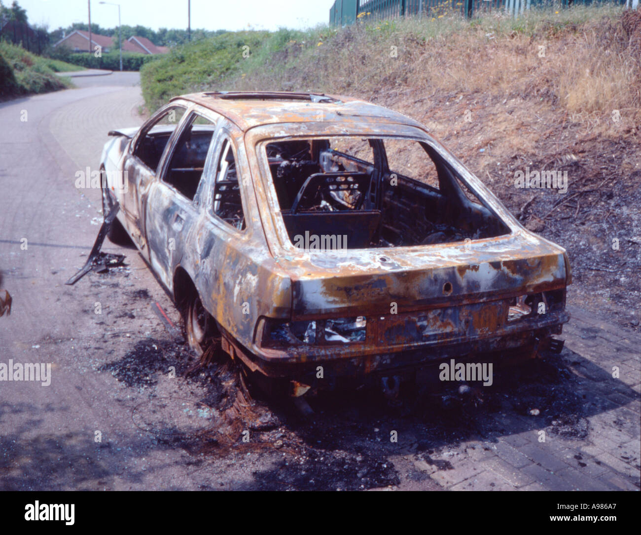
{"type": "MultiPolygon", "coordinates": [[[[110,0],[121,5],[121,22],[129,26],[187,28],[187,0],[110,0]]],[[[9,6],[12,0],[2,0],[9,6]]],[[[103,28],[118,26],[118,8],[91,2],[91,22],[103,28]]],[[[87,22],[87,0],[18,0],[29,24],[49,30],[87,22]]],[[[309,28],[329,22],[334,0],[191,0],[192,28],[205,30],[278,30],[309,28]],[[248,26],[249,25],[249,26],[248,26]]]]}

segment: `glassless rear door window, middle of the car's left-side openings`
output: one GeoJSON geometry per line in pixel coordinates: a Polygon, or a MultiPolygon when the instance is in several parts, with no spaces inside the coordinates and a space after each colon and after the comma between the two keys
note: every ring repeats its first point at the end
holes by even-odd
{"type": "Polygon", "coordinates": [[[212,121],[193,114],[176,143],[163,177],[164,182],[189,200],[196,196],[215,128],[212,121]]]}

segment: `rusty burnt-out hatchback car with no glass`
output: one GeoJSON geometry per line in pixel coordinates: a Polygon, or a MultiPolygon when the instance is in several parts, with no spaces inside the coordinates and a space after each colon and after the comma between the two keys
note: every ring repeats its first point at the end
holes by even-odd
{"type": "Polygon", "coordinates": [[[219,336],[261,377],[330,386],[533,354],[569,319],[565,250],[403,114],[205,92],[110,135],[110,236],[131,237],[197,353],[219,336]]]}

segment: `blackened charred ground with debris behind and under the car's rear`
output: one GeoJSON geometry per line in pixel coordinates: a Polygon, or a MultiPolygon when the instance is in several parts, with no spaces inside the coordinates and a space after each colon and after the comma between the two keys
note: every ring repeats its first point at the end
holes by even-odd
{"type": "MultiPolygon", "coordinates": [[[[461,384],[434,387],[420,380],[393,402],[372,387],[313,393],[308,400],[315,414],[304,418],[287,400],[265,396],[235,362],[223,358],[204,368],[193,364],[183,348],[160,338],[138,342],[104,369],[138,389],[132,417],[146,422],[141,429],[156,437],[158,448],[181,448],[190,463],[214,473],[221,462],[246,463],[247,457],[272,466],[252,470],[251,483],[221,479],[220,486],[237,489],[358,490],[412,482],[439,489],[416,463],[451,470],[447,455],[454,460],[470,448],[490,452],[501,437],[525,431],[545,430],[580,444],[590,432],[588,418],[606,409],[595,394],[639,397],[577,353],[563,350],[562,355],[546,353],[499,368],[494,386],[470,387],[463,394],[461,384]],[[159,392],[158,378],[170,365],[185,373],[180,389],[190,395],[159,392]],[[194,426],[194,418],[182,417],[185,405],[205,411],[201,427],[194,426]],[[507,423],[514,418],[518,425],[507,423]],[[244,432],[247,442],[241,438],[244,432]],[[397,442],[390,440],[391,432],[397,442]],[[463,444],[470,440],[476,445],[463,444]]],[[[574,463],[587,466],[580,454],[574,463]]]]}

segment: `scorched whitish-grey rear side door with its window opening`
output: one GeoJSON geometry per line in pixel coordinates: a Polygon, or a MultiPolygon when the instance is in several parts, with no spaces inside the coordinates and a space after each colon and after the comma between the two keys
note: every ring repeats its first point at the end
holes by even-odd
{"type": "Polygon", "coordinates": [[[190,249],[215,127],[215,117],[191,112],[164,158],[160,180],[149,187],[145,210],[149,261],[168,289],[175,267],[190,249]]]}

